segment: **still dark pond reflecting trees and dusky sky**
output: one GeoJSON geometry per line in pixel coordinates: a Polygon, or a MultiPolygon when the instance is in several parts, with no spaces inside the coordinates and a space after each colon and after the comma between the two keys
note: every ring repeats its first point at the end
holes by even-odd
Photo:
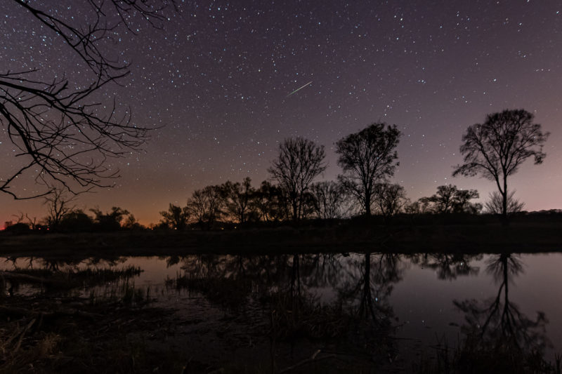
{"type": "Polygon", "coordinates": [[[64,290],[25,279],[8,279],[6,289],[148,301],[145,307],[171,311],[174,323],[174,337],[154,344],[189,349],[216,367],[251,362],[258,371],[304,370],[307,360],[335,357],[341,367],[377,363],[409,372],[448,355],[462,358],[466,349],[509,347],[551,363],[562,352],[562,253],[3,258],[0,264],[45,279],[95,273],[64,290]]]}

